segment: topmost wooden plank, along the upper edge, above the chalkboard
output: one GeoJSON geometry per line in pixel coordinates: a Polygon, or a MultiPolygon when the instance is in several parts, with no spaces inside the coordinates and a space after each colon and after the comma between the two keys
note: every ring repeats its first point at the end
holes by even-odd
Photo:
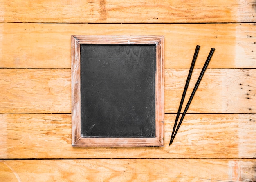
{"type": "Polygon", "coordinates": [[[3,0],[4,22],[169,23],[254,22],[254,0],[3,0]]]}

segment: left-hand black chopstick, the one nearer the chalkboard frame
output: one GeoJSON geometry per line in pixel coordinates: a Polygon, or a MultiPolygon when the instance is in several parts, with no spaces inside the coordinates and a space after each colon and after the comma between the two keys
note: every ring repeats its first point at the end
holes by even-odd
{"type": "Polygon", "coordinates": [[[176,129],[176,125],[178,123],[178,119],[179,119],[179,116],[180,116],[180,111],[181,111],[181,108],[182,108],[182,105],[183,105],[183,102],[184,102],[184,99],[185,99],[185,96],[186,96],[186,91],[188,90],[188,87],[189,87],[189,81],[191,79],[191,75],[192,75],[193,69],[195,67],[195,61],[196,61],[196,58],[198,57],[199,49],[200,49],[200,46],[197,45],[196,48],[195,48],[195,53],[194,53],[194,56],[193,56],[193,59],[192,59],[192,62],[191,62],[191,66],[189,68],[189,75],[186,79],[186,84],[185,84],[185,87],[184,87],[184,90],[183,90],[182,98],[180,100],[180,106],[179,106],[179,109],[178,109],[178,112],[177,112],[175,123],[173,125],[173,132],[172,132],[172,136],[171,136],[171,140],[170,140],[169,145],[171,145],[171,141],[172,141],[175,129],[176,129]]]}

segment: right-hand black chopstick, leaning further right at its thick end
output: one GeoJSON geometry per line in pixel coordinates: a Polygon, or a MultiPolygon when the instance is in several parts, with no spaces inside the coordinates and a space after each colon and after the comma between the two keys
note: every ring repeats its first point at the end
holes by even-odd
{"type": "MultiPolygon", "coordinates": [[[[177,129],[176,129],[176,131],[175,131],[175,134],[173,135],[173,140],[174,140],[174,138],[175,138],[175,136],[176,136],[176,134],[177,134],[177,132],[178,132],[178,129],[180,128],[180,125],[181,125],[181,123],[182,123],[182,121],[183,121],[183,119],[184,119],[184,117],[185,117],[185,115],[186,115],[187,110],[189,109],[189,105],[190,105],[190,103],[191,103],[191,101],[192,101],[192,99],[193,99],[193,97],[194,97],[194,95],[195,95],[196,90],[198,89],[198,86],[199,86],[199,84],[200,84],[200,82],[201,82],[201,80],[202,80],[202,77],[204,76],[204,72],[206,71],[206,68],[207,68],[207,66],[209,65],[209,62],[210,62],[210,60],[211,60],[211,57],[213,56],[214,50],[215,50],[214,48],[211,48],[211,51],[210,51],[210,53],[209,53],[209,55],[208,55],[208,57],[207,57],[207,59],[206,59],[206,61],[205,61],[205,63],[204,63],[204,67],[202,68],[202,71],[201,71],[201,73],[200,73],[200,75],[199,75],[199,77],[198,77],[198,80],[197,80],[196,83],[195,83],[195,87],[194,87],[194,89],[193,89],[193,91],[192,91],[192,93],[191,93],[191,96],[190,96],[190,98],[189,98],[188,103],[186,104],[186,107],[185,107],[185,109],[184,109],[184,112],[183,112],[183,114],[182,114],[182,117],[180,118],[180,122],[179,122],[179,124],[178,124],[178,126],[177,126],[177,129]]],[[[171,140],[171,143],[173,143],[173,140],[171,140]]]]}

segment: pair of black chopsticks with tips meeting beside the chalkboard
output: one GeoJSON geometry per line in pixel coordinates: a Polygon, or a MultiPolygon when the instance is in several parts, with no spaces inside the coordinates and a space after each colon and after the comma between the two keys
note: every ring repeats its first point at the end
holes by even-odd
{"type": "Polygon", "coordinates": [[[178,129],[180,128],[180,125],[181,125],[181,123],[182,123],[182,121],[183,121],[183,119],[184,119],[184,117],[186,115],[187,110],[189,109],[189,105],[190,105],[190,103],[191,103],[191,101],[192,101],[192,99],[193,99],[193,97],[195,95],[196,90],[198,89],[198,86],[199,86],[199,84],[200,84],[200,82],[202,80],[202,77],[204,76],[204,72],[206,71],[206,68],[209,65],[209,62],[210,62],[211,57],[213,56],[213,53],[214,53],[214,50],[215,50],[215,48],[211,48],[211,51],[210,51],[210,53],[209,53],[209,55],[208,55],[208,57],[207,57],[207,59],[206,59],[206,61],[204,63],[204,66],[203,66],[202,71],[201,71],[201,73],[200,73],[200,75],[198,77],[198,80],[195,83],[195,87],[194,87],[194,89],[193,89],[193,91],[191,93],[191,96],[189,98],[188,103],[186,104],[184,112],[183,112],[183,114],[182,114],[182,116],[180,118],[180,122],[179,122],[179,124],[177,126],[177,129],[176,129],[176,125],[178,123],[178,119],[179,119],[179,116],[180,116],[180,111],[182,109],[182,105],[183,105],[183,102],[184,102],[184,99],[185,99],[185,96],[186,96],[186,91],[187,91],[188,86],[189,86],[189,81],[190,81],[193,69],[195,67],[195,61],[196,61],[196,59],[198,57],[199,49],[200,49],[200,46],[197,45],[196,48],[195,48],[195,53],[194,53],[194,56],[193,56],[193,60],[192,60],[191,66],[189,68],[189,75],[188,75],[187,80],[186,80],[186,84],[185,84],[184,91],[183,91],[183,94],[182,94],[182,98],[181,98],[181,101],[180,101],[180,106],[179,106],[179,109],[178,109],[178,112],[177,112],[175,123],[174,123],[174,126],[173,126],[173,132],[172,132],[172,136],[171,136],[171,140],[170,140],[169,145],[171,145],[173,143],[173,140],[174,140],[174,138],[175,138],[175,136],[176,136],[176,134],[178,132],[178,129]]]}

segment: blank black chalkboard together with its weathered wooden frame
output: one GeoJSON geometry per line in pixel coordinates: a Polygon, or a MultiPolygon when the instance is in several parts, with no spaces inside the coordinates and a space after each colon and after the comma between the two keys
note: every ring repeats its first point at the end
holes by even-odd
{"type": "Polygon", "coordinates": [[[72,146],[164,146],[164,37],[71,36],[72,146]]]}

